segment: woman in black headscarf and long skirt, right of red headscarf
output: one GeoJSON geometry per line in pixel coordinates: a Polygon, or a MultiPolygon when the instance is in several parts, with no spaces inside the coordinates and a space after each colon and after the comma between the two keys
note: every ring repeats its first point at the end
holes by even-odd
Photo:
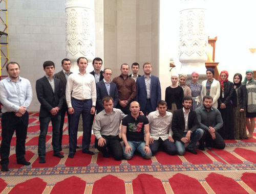
{"type": "Polygon", "coordinates": [[[234,121],[234,139],[248,139],[245,127],[247,90],[242,84],[242,75],[235,74],[233,78],[233,121],[234,121]]]}

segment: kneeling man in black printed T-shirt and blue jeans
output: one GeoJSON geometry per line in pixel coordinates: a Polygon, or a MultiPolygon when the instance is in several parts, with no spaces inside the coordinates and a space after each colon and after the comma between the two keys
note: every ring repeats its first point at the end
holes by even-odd
{"type": "Polygon", "coordinates": [[[140,105],[133,101],[130,104],[131,114],[122,120],[122,140],[124,142],[123,156],[130,160],[137,150],[143,158],[150,159],[152,152],[150,150],[150,124],[146,116],[139,114],[140,105]],[[144,141],[145,130],[145,141],[144,141]]]}

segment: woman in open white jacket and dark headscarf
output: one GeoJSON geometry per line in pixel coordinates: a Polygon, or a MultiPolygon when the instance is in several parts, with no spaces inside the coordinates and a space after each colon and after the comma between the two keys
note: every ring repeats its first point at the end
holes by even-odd
{"type": "Polygon", "coordinates": [[[220,98],[220,82],[214,79],[214,69],[208,68],[206,70],[207,80],[202,82],[201,100],[205,95],[210,95],[214,100],[212,101],[212,107],[218,108],[218,99],[220,98]]]}

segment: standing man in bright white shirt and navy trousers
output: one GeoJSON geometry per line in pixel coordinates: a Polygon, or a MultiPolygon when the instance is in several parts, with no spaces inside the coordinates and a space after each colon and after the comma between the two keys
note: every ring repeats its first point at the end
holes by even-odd
{"type": "Polygon", "coordinates": [[[69,158],[74,158],[77,145],[77,131],[79,118],[82,114],[83,137],[82,152],[94,154],[89,150],[91,142],[91,114],[95,113],[96,84],[95,78],[86,71],[88,60],[85,57],[77,59],[79,72],[71,74],[66,88],[66,99],[71,114],[71,127],[69,136],[69,158]]]}

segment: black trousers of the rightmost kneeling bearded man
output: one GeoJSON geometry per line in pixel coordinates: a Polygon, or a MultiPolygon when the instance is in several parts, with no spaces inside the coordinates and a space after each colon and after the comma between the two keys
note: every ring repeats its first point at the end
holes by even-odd
{"type": "Polygon", "coordinates": [[[204,134],[203,134],[202,138],[199,140],[200,144],[205,142],[206,147],[216,148],[216,149],[221,149],[221,150],[226,147],[224,139],[218,132],[215,132],[216,139],[212,139],[209,131],[206,131],[206,130],[203,130],[203,131],[204,131],[204,134]]]}

